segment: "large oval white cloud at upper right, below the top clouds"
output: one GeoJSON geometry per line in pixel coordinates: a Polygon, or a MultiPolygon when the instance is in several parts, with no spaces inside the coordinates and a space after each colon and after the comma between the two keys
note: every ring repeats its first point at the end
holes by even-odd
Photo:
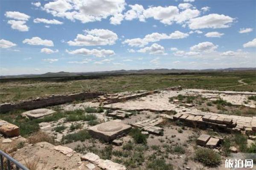
{"type": "Polygon", "coordinates": [[[234,18],[223,14],[209,14],[189,20],[189,28],[228,28],[234,20],[234,18]]]}

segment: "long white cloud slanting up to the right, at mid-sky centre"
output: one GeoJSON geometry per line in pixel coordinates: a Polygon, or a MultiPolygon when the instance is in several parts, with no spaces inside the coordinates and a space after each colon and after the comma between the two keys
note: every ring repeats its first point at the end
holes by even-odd
{"type": "Polygon", "coordinates": [[[134,38],[134,39],[126,39],[123,41],[123,44],[128,44],[129,46],[137,46],[137,47],[143,47],[147,45],[149,42],[157,42],[160,40],[165,40],[165,39],[182,39],[188,37],[189,34],[183,33],[180,31],[175,31],[171,34],[160,34],[157,32],[154,32],[152,34],[147,34],[143,39],[141,38],[134,38]]]}

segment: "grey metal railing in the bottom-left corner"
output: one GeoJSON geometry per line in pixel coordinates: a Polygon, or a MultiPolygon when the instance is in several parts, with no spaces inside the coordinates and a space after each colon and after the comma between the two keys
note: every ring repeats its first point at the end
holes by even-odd
{"type": "Polygon", "coordinates": [[[27,167],[25,167],[23,164],[20,164],[20,162],[13,159],[11,156],[9,156],[7,153],[0,150],[0,170],[3,169],[3,157],[7,159],[7,170],[11,170],[11,162],[16,165],[16,170],[29,170],[27,167]]]}

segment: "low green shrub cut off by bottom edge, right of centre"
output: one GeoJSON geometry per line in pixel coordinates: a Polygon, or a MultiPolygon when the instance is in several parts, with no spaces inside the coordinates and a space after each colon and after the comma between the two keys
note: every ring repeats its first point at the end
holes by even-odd
{"type": "Polygon", "coordinates": [[[172,164],[166,164],[164,159],[155,159],[147,163],[147,168],[151,170],[173,170],[172,164]]]}

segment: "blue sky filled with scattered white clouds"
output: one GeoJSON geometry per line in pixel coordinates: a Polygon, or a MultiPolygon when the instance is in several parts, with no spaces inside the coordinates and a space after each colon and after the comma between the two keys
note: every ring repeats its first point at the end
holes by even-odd
{"type": "Polygon", "coordinates": [[[0,0],[0,75],[256,67],[256,0],[0,0]]]}

